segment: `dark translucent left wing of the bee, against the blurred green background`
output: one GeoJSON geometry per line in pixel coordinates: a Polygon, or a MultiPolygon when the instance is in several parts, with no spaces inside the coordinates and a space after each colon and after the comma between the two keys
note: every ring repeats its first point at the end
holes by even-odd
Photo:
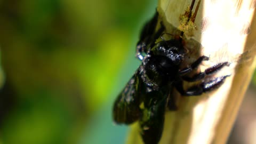
{"type": "Polygon", "coordinates": [[[142,80],[138,70],[118,95],[114,103],[114,121],[118,124],[131,124],[140,117],[140,89],[142,80]]]}

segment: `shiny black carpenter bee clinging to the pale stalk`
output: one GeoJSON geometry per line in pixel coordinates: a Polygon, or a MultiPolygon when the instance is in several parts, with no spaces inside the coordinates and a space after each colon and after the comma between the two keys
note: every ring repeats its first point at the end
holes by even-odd
{"type": "Polygon", "coordinates": [[[165,30],[163,25],[156,30],[157,20],[158,13],[141,31],[136,57],[142,64],[118,95],[113,109],[114,121],[117,124],[139,121],[141,137],[146,144],[156,144],[161,139],[165,109],[169,107],[170,110],[175,110],[169,105],[173,103],[170,101],[173,99],[169,98],[172,97],[169,93],[174,87],[183,96],[201,95],[219,87],[228,75],[202,82],[186,91],[182,87],[182,82],[199,81],[229,65],[229,62],[221,62],[193,77],[186,77],[186,74],[209,58],[203,55],[189,67],[180,69],[185,55],[182,38],[167,41],[162,38],[162,41],[155,43],[165,30]]]}

